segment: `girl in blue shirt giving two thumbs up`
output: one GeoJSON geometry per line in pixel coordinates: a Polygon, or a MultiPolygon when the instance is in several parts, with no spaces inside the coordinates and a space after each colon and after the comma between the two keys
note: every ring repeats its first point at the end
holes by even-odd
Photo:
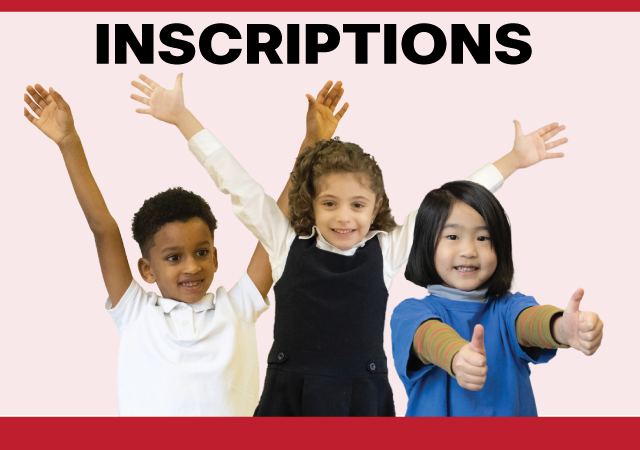
{"type": "Polygon", "coordinates": [[[431,191],[416,218],[406,278],[429,290],[391,317],[393,357],[407,416],[536,416],[529,364],[557,348],[592,355],[603,323],[511,294],[511,228],[484,187],[456,181],[431,191]]]}

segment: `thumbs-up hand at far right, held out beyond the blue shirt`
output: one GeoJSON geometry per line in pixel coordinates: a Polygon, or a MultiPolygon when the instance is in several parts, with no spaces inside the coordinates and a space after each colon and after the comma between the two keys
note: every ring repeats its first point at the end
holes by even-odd
{"type": "Polygon", "coordinates": [[[604,323],[596,313],[580,311],[583,295],[583,289],[578,289],[573,294],[562,319],[555,321],[552,331],[557,342],[570,345],[589,356],[600,347],[604,323]]]}

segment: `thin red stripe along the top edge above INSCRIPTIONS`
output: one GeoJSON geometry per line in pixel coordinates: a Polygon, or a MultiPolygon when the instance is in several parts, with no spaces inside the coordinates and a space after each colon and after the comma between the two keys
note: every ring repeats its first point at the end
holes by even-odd
{"type": "MultiPolygon", "coordinates": [[[[401,0],[389,2],[387,0],[343,0],[342,2],[318,3],[300,2],[299,0],[245,0],[243,2],[222,2],[211,0],[189,0],[176,2],[157,0],[151,3],[132,2],[130,0],[112,0],[110,2],[88,2],[80,0],[32,0],[30,2],[3,2],[0,11],[220,11],[220,12],[309,12],[309,11],[431,11],[431,12],[495,12],[495,11],[640,11],[638,0],[611,0],[608,2],[594,0],[567,1],[522,1],[512,0],[459,0],[458,2],[429,2],[425,0],[401,0]]],[[[341,21],[336,17],[336,22],[341,21]]]]}

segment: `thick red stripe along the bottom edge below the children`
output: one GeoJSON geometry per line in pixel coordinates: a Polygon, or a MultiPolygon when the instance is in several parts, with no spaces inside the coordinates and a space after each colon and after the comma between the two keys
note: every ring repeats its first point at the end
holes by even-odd
{"type": "Polygon", "coordinates": [[[544,430],[551,448],[630,448],[639,425],[639,418],[1,418],[0,432],[7,449],[242,449],[277,444],[326,450],[408,449],[416,446],[416,429],[429,429],[438,430],[430,433],[429,445],[450,447],[454,435],[460,444],[454,448],[465,448],[481,436],[474,444],[479,449],[511,448],[517,442],[519,450],[528,450],[540,447],[540,439],[522,439],[531,430],[544,430]]]}

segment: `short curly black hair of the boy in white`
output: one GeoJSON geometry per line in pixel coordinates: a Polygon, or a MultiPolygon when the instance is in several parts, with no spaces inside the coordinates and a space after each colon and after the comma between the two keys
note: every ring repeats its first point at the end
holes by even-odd
{"type": "Polygon", "coordinates": [[[213,236],[218,221],[209,204],[198,194],[175,187],[146,199],[131,221],[133,239],[140,246],[142,256],[149,257],[149,250],[155,245],[153,237],[160,228],[171,222],[188,222],[194,217],[202,219],[213,236]]]}

